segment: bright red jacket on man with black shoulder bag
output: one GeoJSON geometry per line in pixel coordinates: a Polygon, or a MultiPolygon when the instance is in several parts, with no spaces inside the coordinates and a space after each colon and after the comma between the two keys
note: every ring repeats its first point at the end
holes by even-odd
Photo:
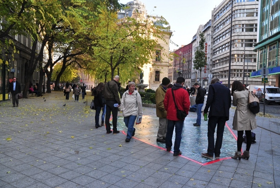
{"type": "MultiPolygon", "coordinates": [[[[174,84],[174,86],[171,89],[174,92],[174,97],[178,109],[185,111],[186,114],[189,114],[189,109],[191,104],[189,93],[185,89],[183,89],[183,86],[181,84],[174,84]]],[[[177,110],[174,104],[174,99],[172,96],[171,89],[166,91],[164,97],[164,108],[167,111],[166,118],[172,121],[179,121],[179,119],[177,118],[177,110]]]]}

